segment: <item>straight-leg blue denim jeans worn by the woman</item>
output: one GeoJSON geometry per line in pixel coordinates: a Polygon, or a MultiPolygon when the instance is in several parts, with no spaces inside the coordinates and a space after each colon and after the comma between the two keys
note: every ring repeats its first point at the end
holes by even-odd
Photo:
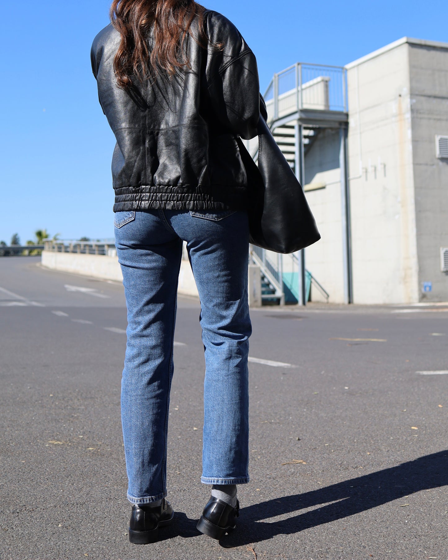
{"type": "Polygon", "coordinates": [[[249,482],[249,225],[245,212],[115,214],[128,307],[122,423],[128,500],[166,496],[176,292],[183,240],[200,297],[206,358],[205,484],[249,482]]]}

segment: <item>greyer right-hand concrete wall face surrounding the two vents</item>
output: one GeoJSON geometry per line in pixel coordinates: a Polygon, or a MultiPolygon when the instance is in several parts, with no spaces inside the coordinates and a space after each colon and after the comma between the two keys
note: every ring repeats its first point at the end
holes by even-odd
{"type": "Polygon", "coordinates": [[[435,147],[436,134],[448,136],[448,45],[409,44],[409,67],[419,297],[448,301],[440,267],[440,247],[448,247],[448,160],[435,147]],[[431,292],[423,282],[432,282],[431,292]]]}

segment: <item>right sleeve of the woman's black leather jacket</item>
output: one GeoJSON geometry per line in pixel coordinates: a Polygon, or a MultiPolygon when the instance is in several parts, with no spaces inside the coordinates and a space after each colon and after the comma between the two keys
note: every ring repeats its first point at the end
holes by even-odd
{"type": "MultiPolygon", "coordinates": [[[[216,12],[213,14],[217,17],[216,12]]],[[[246,140],[257,136],[260,84],[254,53],[236,27],[219,15],[220,25],[209,27],[213,44],[207,61],[207,94],[220,124],[246,140]]]]}

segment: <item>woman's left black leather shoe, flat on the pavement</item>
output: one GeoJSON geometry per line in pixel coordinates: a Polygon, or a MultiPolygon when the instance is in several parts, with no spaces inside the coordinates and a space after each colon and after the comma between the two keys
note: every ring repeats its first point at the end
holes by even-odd
{"type": "Polygon", "coordinates": [[[162,500],[160,506],[132,506],[129,521],[129,540],[134,544],[156,543],[158,528],[171,525],[174,511],[170,502],[162,500]]]}

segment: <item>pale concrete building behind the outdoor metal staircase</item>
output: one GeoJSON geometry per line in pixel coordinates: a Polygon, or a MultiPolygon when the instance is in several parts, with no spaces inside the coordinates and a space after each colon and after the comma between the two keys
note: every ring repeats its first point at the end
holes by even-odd
{"type": "MultiPolygon", "coordinates": [[[[302,165],[297,175],[322,235],[305,251],[306,269],[330,302],[448,301],[448,249],[443,251],[448,248],[448,44],[403,38],[340,70],[348,99],[339,107],[330,67],[322,67],[320,79],[300,81],[302,111],[291,122],[285,119],[296,88],[279,91],[277,79],[277,92],[268,101],[274,136],[281,130],[280,141],[276,138],[285,155],[293,167],[302,165]],[[316,118],[315,124],[303,119],[313,99],[321,113],[339,111],[333,125],[328,118],[325,123],[316,118]],[[299,139],[293,134],[297,124],[299,139]]],[[[284,256],[283,269],[292,262],[284,256]]],[[[296,277],[292,284],[300,286],[296,277]]],[[[311,300],[324,296],[311,287],[311,300]]]]}

